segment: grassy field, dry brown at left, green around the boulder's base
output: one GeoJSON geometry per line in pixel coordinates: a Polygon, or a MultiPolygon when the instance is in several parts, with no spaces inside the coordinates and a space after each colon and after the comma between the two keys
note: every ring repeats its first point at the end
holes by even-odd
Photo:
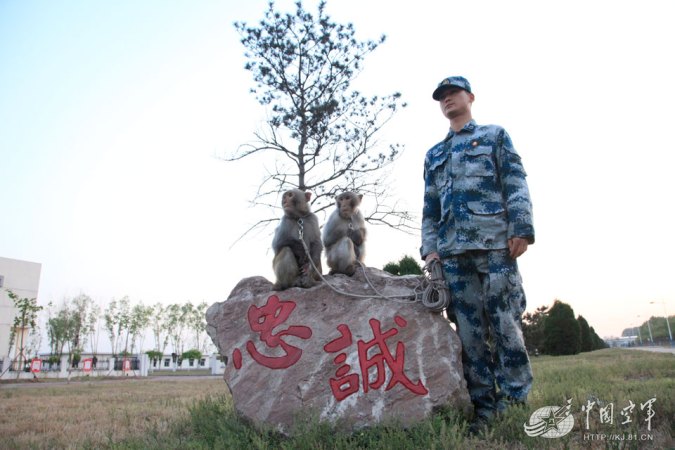
{"type": "Polygon", "coordinates": [[[352,434],[299,424],[294,437],[250,427],[236,417],[220,377],[75,380],[0,385],[0,448],[116,449],[540,449],[674,448],[675,355],[607,349],[569,357],[537,357],[529,404],[500,416],[487,435],[468,437],[452,411],[407,430],[377,427],[352,434]],[[654,415],[647,429],[650,399],[654,415]],[[523,426],[544,406],[571,399],[573,430],[559,438],[529,437],[523,426]],[[586,430],[582,406],[595,402],[586,430]],[[632,423],[623,408],[635,404],[632,423]],[[599,408],[613,406],[613,423],[599,408]],[[603,436],[605,440],[603,439],[603,436]],[[623,440],[616,440],[617,438],[623,440]],[[637,440],[636,440],[637,438],[637,440]],[[607,440],[614,439],[614,440],[607,440]]]}

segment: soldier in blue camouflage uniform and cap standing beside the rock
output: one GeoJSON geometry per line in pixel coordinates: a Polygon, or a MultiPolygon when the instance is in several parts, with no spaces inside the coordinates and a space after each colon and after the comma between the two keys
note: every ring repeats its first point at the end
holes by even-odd
{"type": "Polygon", "coordinates": [[[452,294],[448,314],[462,341],[474,420],[472,433],[496,412],[522,404],[532,370],[521,330],[525,292],[516,258],[534,243],[525,170],[506,131],[477,125],[464,77],[434,90],[450,121],[447,137],[424,160],[422,259],[442,262],[452,294]]]}

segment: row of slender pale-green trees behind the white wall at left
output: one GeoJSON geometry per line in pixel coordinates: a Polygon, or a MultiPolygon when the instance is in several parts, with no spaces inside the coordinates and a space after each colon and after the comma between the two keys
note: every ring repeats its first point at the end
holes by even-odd
{"type": "MultiPolygon", "coordinates": [[[[207,307],[206,302],[146,306],[132,303],[125,296],[111,300],[102,309],[86,294],[66,298],[58,305],[50,302],[44,325],[51,358],[59,361],[67,354],[70,361],[76,362],[84,352],[96,355],[101,331],[108,337],[113,355],[145,350],[148,334],[154,337],[152,351],[164,354],[170,344],[179,354],[188,349],[206,354],[211,350],[206,334],[207,307]]],[[[41,348],[40,327],[37,321],[32,325],[29,339],[20,345],[24,355],[36,355],[41,348]]],[[[14,344],[12,340],[10,354],[14,344]]]]}

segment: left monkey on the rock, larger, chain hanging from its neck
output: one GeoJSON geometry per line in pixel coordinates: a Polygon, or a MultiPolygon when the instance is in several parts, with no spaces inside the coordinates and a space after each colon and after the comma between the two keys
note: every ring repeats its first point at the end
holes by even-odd
{"type": "Polygon", "coordinates": [[[274,232],[272,249],[274,250],[274,275],[277,278],[274,289],[281,291],[292,286],[311,287],[321,274],[321,232],[319,221],[309,209],[312,194],[299,189],[291,189],[281,198],[284,216],[274,232]],[[311,266],[305,241],[317,273],[311,266]]]}

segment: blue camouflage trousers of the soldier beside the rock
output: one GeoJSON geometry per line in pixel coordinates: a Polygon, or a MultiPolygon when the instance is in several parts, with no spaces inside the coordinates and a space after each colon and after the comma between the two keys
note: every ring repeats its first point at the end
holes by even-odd
{"type": "Polygon", "coordinates": [[[444,258],[443,272],[452,296],[448,316],[462,341],[476,414],[491,417],[500,398],[524,402],[532,369],[521,329],[525,292],[516,261],[508,249],[472,250],[444,258]]]}

